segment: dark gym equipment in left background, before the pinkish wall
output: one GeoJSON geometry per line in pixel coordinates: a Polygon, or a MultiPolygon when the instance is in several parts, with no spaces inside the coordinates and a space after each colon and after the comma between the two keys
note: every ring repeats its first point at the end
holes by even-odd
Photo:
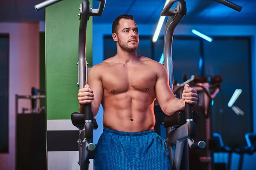
{"type": "Polygon", "coordinates": [[[38,100],[45,99],[32,88],[32,95],[15,95],[16,116],[16,170],[46,169],[46,113],[38,107],[38,100]],[[19,100],[30,100],[31,108],[18,112],[19,100]]]}

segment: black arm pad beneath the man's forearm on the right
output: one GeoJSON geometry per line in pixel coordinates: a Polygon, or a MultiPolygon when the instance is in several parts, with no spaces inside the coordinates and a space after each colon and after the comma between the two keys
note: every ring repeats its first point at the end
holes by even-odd
{"type": "MultiPolygon", "coordinates": [[[[192,111],[193,121],[197,123],[198,113],[196,111],[192,111]]],[[[184,111],[177,111],[172,116],[166,116],[163,120],[163,126],[165,128],[173,127],[173,126],[181,126],[186,123],[186,113],[184,111]]]]}

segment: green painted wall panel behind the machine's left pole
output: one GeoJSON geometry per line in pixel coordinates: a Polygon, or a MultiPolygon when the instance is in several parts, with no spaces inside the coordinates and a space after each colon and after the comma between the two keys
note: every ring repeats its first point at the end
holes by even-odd
{"type": "MultiPolygon", "coordinates": [[[[47,119],[71,119],[79,112],[78,40],[81,0],[63,0],[46,8],[47,119]]],[[[90,0],[92,8],[92,0],[90,0]]],[[[86,57],[92,65],[92,17],[87,24],[86,57]]]]}

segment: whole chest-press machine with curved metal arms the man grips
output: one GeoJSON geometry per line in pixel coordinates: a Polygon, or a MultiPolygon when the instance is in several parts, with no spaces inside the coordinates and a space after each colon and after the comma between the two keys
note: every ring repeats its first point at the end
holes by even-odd
{"type": "MultiPolygon", "coordinates": [[[[46,8],[61,0],[47,0],[35,6],[38,11],[46,8]]],[[[98,0],[99,8],[90,8],[89,0],[82,0],[80,5],[80,26],[79,26],[79,88],[83,88],[87,82],[87,61],[85,55],[86,47],[86,27],[87,20],[90,16],[101,16],[105,7],[105,0],[98,0]]],[[[215,0],[237,11],[241,11],[241,7],[227,0],[215,0]]],[[[166,24],[166,31],[164,37],[164,65],[169,74],[169,84],[173,90],[173,68],[172,68],[172,39],[174,30],[177,24],[186,15],[186,2],[185,0],[170,0],[169,3],[163,8],[161,16],[168,16],[166,24]],[[175,2],[179,3],[174,9],[170,9],[175,2]]],[[[88,170],[89,158],[93,158],[93,151],[96,147],[93,144],[93,129],[97,128],[96,120],[93,118],[91,111],[91,104],[85,106],[84,113],[72,113],[71,120],[74,126],[79,129],[79,165],[80,170],[88,170]]],[[[192,107],[186,104],[186,113],[177,111],[172,116],[166,116],[164,119],[164,126],[166,127],[166,144],[169,150],[169,160],[172,169],[180,169],[182,156],[185,160],[185,169],[188,169],[188,147],[192,149],[201,149],[205,147],[205,142],[193,142],[195,137],[195,123],[197,122],[197,113],[192,111],[192,107]],[[173,147],[176,145],[175,155],[173,156],[173,147]],[[184,154],[183,154],[184,148],[184,154]]]]}

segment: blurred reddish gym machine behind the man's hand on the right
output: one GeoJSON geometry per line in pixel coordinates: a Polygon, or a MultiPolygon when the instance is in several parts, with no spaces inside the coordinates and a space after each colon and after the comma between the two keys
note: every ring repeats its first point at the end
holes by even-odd
{"type": "MultiPolygon", "coordinates": [[[[214,169],[213,167],[213,152],[210,149],[212,141],[212,102],[215,96],[221,89],[222,77],[215,75],[212,77],[200,77],[193,75],[189,80],[186,79],[186,74],[183,75],[183,83],[175,85],[173,93],[181,98],[185,84],[194,88],[198,94],[198,104],[193,107],[198,112],[198,119],[195,140],[204,140],[207,147],[196,151],[200,164],[194,165],[197,168],[207,170],[214,169]]],[[[192,150],[189,151],[192,153],[192,150]]],[[[192,168],[192,167],[191,167],[192,168]]]]}

